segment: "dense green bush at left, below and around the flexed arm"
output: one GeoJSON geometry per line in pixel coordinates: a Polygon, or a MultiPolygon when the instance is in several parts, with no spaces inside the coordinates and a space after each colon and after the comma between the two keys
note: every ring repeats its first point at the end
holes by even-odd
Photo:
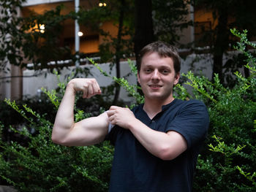
{"type": "MultiPolygon", "coordinates": [[[[59,86],[65,87],[63,82],[59,86]]],[[[54,109],[59,107],[61,91],[44,92],[55,106],[49,110],[56,111],[54,109]]],[[[9,127],[19,140],[0,140],[1,180],[6,180],[18,191],[108,190],[113,158],[113,147],[108,142],[90,147],[55,145],[50,139],[52,120],[31,110],[27,104],[20,107],[15,101],[6,102],[25,118],[26,123],[18,128],[9,127]]],[[[97,109],[97,112],[100,110],[97,109]]],[[[76,107],[75,120],[89,116],[89,113],[76,107]]],[[[4,125],[1,124],[3,130],[4,125]]]]}

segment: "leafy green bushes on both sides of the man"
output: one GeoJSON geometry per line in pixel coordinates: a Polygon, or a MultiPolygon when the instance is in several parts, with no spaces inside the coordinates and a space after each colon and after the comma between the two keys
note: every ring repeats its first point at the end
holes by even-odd
{"type": "MultiPolygon", "coordinates": [[[[232,32],[241,39],[236,49],[248,58],[249,77],[236,72],[236,85],[225,88],[218,76],[209,81],[189,72],[184,77],[193,92],[188,93],[182,85],[175,88],[176,98],[204,101],[211,120],[206,146],[198,158],[194,191],[256,191],[256,59],[245,51],[247,45],[256,46],[247,41],[246,31],[232,32]]],[[[143,101],[135,85],[129,85],[124,79],[113,77],[113,80],[135,96],[137,102],[143,101]]],[[[59,87],[62,94],[65,83],[59,83],[59,87]]],[[[44,92],[58,108],[61,94],[44,92]]],[[[19,191],[108,191],[113,156],[113,147],[108,142],[91,147],[54,145],[50,140],[53,123],[45,115],[27,105],[18,107],[14,101],[7,104],[28,122],[20,131],[10,127],[28,142],[0,141],[2,179],[19,191]],[[36,130],[34,134],[29,132],[31,128],[36,130]]],[[[83,111],[75,110],[75,120],[89,116],[83,111]]]]}

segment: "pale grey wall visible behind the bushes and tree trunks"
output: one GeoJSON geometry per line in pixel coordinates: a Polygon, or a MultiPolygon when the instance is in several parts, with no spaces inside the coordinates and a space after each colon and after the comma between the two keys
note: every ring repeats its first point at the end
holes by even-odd
{"type": "MultiPolygon", "coordinates": [[[[181,73],[187,73],[191,68],[190,65],[195,62],[194,64],[194,72],[197,74],[205,74],[206,77],[211,79],[211,72],[212,72],[212,60],[210,55],[189,55],[186,59],[182,59],[181,61],[181,73]],[[198,58],[198,60],[197,60],[198,58]]],[[[86,64],[85,66],[81,67],[89,67],[90,72],[92,75],[89,75],[89,77],[94,77],[99,82],[99,86],[105,87],[111,84],[112,80],[110,77],[105,77],[102,74],[99,73],[99,70],[91,65],[86,64]]],[[[100,64],[100,67],[105,71],[110,73],[110,66],[109,64],[100,64]]],[[[69,69],[63,69],[61,71],[61,80],[64,80],[64,77],[68,74],[71,74],[73,67],[69,67],[69,69]]],[[[116,70],[113,68],[111,71],[111,75],[116,75],[116,70]]],[[[129,65],[127,64],[127,61],[121,62],[121,77],[128,74],[130,72],[129,65]]],[[[35,96],[37,95],[37,91],[44,87],[48,90],[52,90],[54,88],[57,88],[57,78],[55,74],[50,74],[46,69],[41,70],[39,72],[34,72],[34,70],[28,70],[26,69],[23,71],[23,75],[27,76],[23,78],[23,96],[35,96]],[[32,75],[37,75],[37,77],[29,77],[32,75]],[[45,77],[45,75],[47,76],[45,77]]],[[[130,84],[135,85],[137,83],[137,77],[132,74],[127,79],[130,84]]],[[[119,96],[120,99],[123,101],[129,102],[131,101],[131,98],[127,95],[127,92],[124,91],[124,89],[121,89],[121,93],[119,96]]]]}

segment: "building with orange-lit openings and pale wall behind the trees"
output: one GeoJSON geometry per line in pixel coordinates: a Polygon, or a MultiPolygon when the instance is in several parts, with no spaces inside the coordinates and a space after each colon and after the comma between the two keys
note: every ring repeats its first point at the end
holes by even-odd
{"type": "MultiPolygon", "coordinates": [[[[80,7],[90,7],[99,6],[99,1],[87,1],[80,0],[80,7]]],[[[37,14],[42,14],[45,10],[55,9],[56,6],[64,4],[64,9],[62,11],[63,14],[66,14],[72,10],[75,10],[75,1],[70,0],[28,0],[23,4],[22,9],[18,9],[18,14],[20,17],[29,16],[29,12],[33,11],[37,14]]],[[[108,5],[107,5],[108,6],[108,5]]],[[[200,38],[200,28],[205,26],[206,28],[211,28],[212,18],[211,14],[206,14],[205,12],[194,12],[193,7],[189,7],[190,14],[187,15],[187,20],[194,20],[196,25],[189,26],[188,28],[180,31],[181,39],[180,42],[182,44],[187,44],[189,42],[194,42],[195,39],[200,38]]],[[[43,25],[43,23],[42,23],[43,25]]],[[[118,28],[113,25],[111,22],[102,23],[100,28],[103,31],[109,31],[110,34],[116,35],[118,33],[118,28]]],[[[97,32],[92,31],[90,28],[86,28],[86,26],[80,26],[80,31],[83,32],[83,36],[80,37],[80,52],[81,53],[97,53],[99,52],[98,46],[104,41],[104,37],[100,36],[97,32]]],[[[64,31],[61,37],[61,41],[64,45],[69,45],[72,47],[72,50],[75,51],[75,22],[74,20],[66,20],[64,23],[64,31]]],[[[186,50],[180,50],[184,52],[186,50]]],[[[189,55],[186,60],[182,61],[182,71],[187,72],[190,64],[193,62],[195,55],[189,55]]],[[[63,61],[64,62],[64,61],[63,61]]],[[[204,73],[211,74],[211,62],[206,62],[201,60],[201,64],[205,66],[204,73]]],[[[107,67],[108,64],[102,65],[106,71],[109,70],[107,67]]],[[[56,88],[57,82],[56,77],[53,74],[48,74],[47,69],[42,69],[39,71],[29,70],[29,69],[20,69],[18,66],[9,66],[10,72],[8,74],[1,74],[1,82],[0,82],[0,98],[8,98],[8,99],[20,99],[22,96],[35,96],[40,91],[41,87],[45,87],[50,89],[56,88]],[[47,74],[47,77],[45,78],[47,74]]],[[[91,65],[85,65],[82,67],[92,68],[91,65]]],[[[62,72],[64,74],[69,74],[75,66],[70,66],[69,69],[64,69],[62,72]]],[[[97,69],[90,69],[93,77],[96,77],[99,80],[99,84],[101,86],[110,85],[111,80],[105,79],[106,77],[102,77],[99,74],[97,69]]],[[[121,75],[124,76],[129,73],[129,66],[127,65],[127,61],[121,62],[121,75]]],[[[112,74],[115,74],[113,70],[112,74]]],[[[210,75],[208,75],[210,76],[210,75]]],[[[129,77],[129,82],[136,83],[135,75],[129,77]]],[[[129,100],[129,97],[126,93],[121,91],[120,98],[124,100],[129,100]]]]}

